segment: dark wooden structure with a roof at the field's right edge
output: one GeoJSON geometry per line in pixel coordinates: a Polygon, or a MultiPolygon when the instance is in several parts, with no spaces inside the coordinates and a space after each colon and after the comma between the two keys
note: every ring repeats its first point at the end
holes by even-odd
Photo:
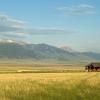
{"type": "Polygon", "coordinates": [[[90,63],[85,66],[85,69],[88,70],[88,72],[100,72],[100,63],[90,63]]]}

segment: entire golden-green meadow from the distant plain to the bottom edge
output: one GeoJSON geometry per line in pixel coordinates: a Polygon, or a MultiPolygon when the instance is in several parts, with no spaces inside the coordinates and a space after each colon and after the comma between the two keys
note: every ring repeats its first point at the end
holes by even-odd
{"type": "Polygon", "coordinates": [[[0,100],[98,100],[100,73],[81,64],[0,63],[0,100]]]}

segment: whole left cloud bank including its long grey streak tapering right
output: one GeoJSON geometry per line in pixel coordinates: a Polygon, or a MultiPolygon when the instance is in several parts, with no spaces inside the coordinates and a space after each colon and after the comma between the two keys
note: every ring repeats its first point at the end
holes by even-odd
{"type": "MultiPolygon", "coordinates": [[[[33,27],[33,26],[31,26],[33,27]]],[[[23,39],[32,35],[58,35],[76,33],[77,30],[61,27],[29,28],[26,22],[0,14],[0,38],[23,39]],[[27,26],[27,27],[26,27],[27,26]]]]}

